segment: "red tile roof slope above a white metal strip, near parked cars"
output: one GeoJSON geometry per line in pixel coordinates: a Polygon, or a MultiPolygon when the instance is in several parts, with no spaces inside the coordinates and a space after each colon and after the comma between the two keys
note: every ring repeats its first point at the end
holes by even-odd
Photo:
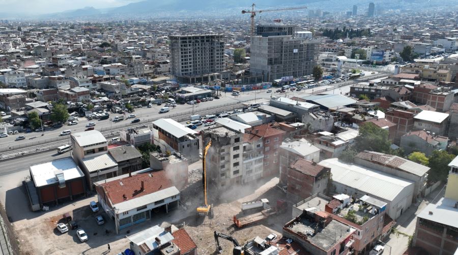
{"type": "Polygon", "coordinates": [[[113,205],[129,199],[139,198],[173,186],[165,171],[149,172],[125,177],[101,184],[113,205]],[[141,181],[145,190],[141,191],[141,181]]]}

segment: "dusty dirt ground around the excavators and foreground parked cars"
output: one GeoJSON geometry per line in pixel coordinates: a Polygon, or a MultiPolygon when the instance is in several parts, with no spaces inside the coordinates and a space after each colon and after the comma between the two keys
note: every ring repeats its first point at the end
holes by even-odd
{"type": "MultiPolygon", "coordinates": [[[[257,225],[237,229],[233,224],[233,215],[240,212],[241,202],[251,201],[257,198],[267,198],[272,204],[277,199],[284,198],[275,184],[278,178],[262,180],[259,183],[252,183],[247,187],[237,187],[224,193],[219,198],[210,198],[214,203],[214,217],[212,219],[197,217],[195,208],[202,201],[201,174],[197,170],[190,171],[190,185],[183,190],[181,195],[182,205],[179,209],[154,217],[138,226],[115,233],[114,221],[107,218],[104,212],[93,213],[89,208],[89,202],[96,200],[96,197],[78,200],[71,204],[60,205],[48,212],[38,212],[35,217],[28,217],[14,222],[13,226],[18,236],[18,242],[22,254],[117,254],[129,247],[126,236],[137,233],[154,225],[161,225],[169,222],[177,226],[183,225],[188,234],[198,247],[199,254],[214,254],[215,242],[213,232],[234,236],[240,243],[260,236],[265,238],[270,233],[281,234],[281,228],[291,218],[291,209],[287,212],[273,215],[257,225]],[[248,195],[245,195],[248,194],[248,195]],[[60,234],[55,226],[62,221],[62,214],[70,212],[76,220],[79,228],[84,229],[89,240],[80,243],[76,237],[76,230],[70,230],[60,234]],[[103,215],[105,225],[98,226],[95,220],[96,215],[103,215]],[[109,231],[108,235],[105,231],[109,231]],[[107,243],[111,251],[107,250],[107,243]]],[[[25,201],[25,200],[24,200],[25,201]]],[[[289,204],[288,208],[291,208],[289,204]]],[[[280,235],[279,235],[280,237],[280,235]]],[[[220,240],[224,249],[223,254],[232,254],[232,243],[220,240]]]]}

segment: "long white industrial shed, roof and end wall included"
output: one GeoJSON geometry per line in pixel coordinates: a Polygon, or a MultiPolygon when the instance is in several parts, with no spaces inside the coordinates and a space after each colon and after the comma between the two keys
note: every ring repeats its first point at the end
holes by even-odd
{"type": "Polygon", "coordinates": [[[361,198],[364,195],[387,203],[387,214],[396,219],[412,204],[413,181],[355,164],[346,164],[337,158],[321,161],[319,165],[331,168],[332,184],[336,193],[361,198]]]}

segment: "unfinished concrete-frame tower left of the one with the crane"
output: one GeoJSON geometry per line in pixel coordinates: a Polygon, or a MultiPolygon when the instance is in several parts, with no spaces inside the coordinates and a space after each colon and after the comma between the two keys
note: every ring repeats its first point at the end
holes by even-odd
{"type": "Polygon", "coordinates": [[[225,69],[224,35],[169,36],[170,74],[196,83],[219,78],[225,69]]]}

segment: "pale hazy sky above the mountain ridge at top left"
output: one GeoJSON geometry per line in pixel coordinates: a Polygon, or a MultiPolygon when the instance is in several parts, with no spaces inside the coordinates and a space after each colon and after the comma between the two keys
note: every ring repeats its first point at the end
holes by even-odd
{"type": "Polygon", "coordinates": [[[141,0],[0,0],[0,12],[52,13],[92,6],[109,8],[141,0]]]}

